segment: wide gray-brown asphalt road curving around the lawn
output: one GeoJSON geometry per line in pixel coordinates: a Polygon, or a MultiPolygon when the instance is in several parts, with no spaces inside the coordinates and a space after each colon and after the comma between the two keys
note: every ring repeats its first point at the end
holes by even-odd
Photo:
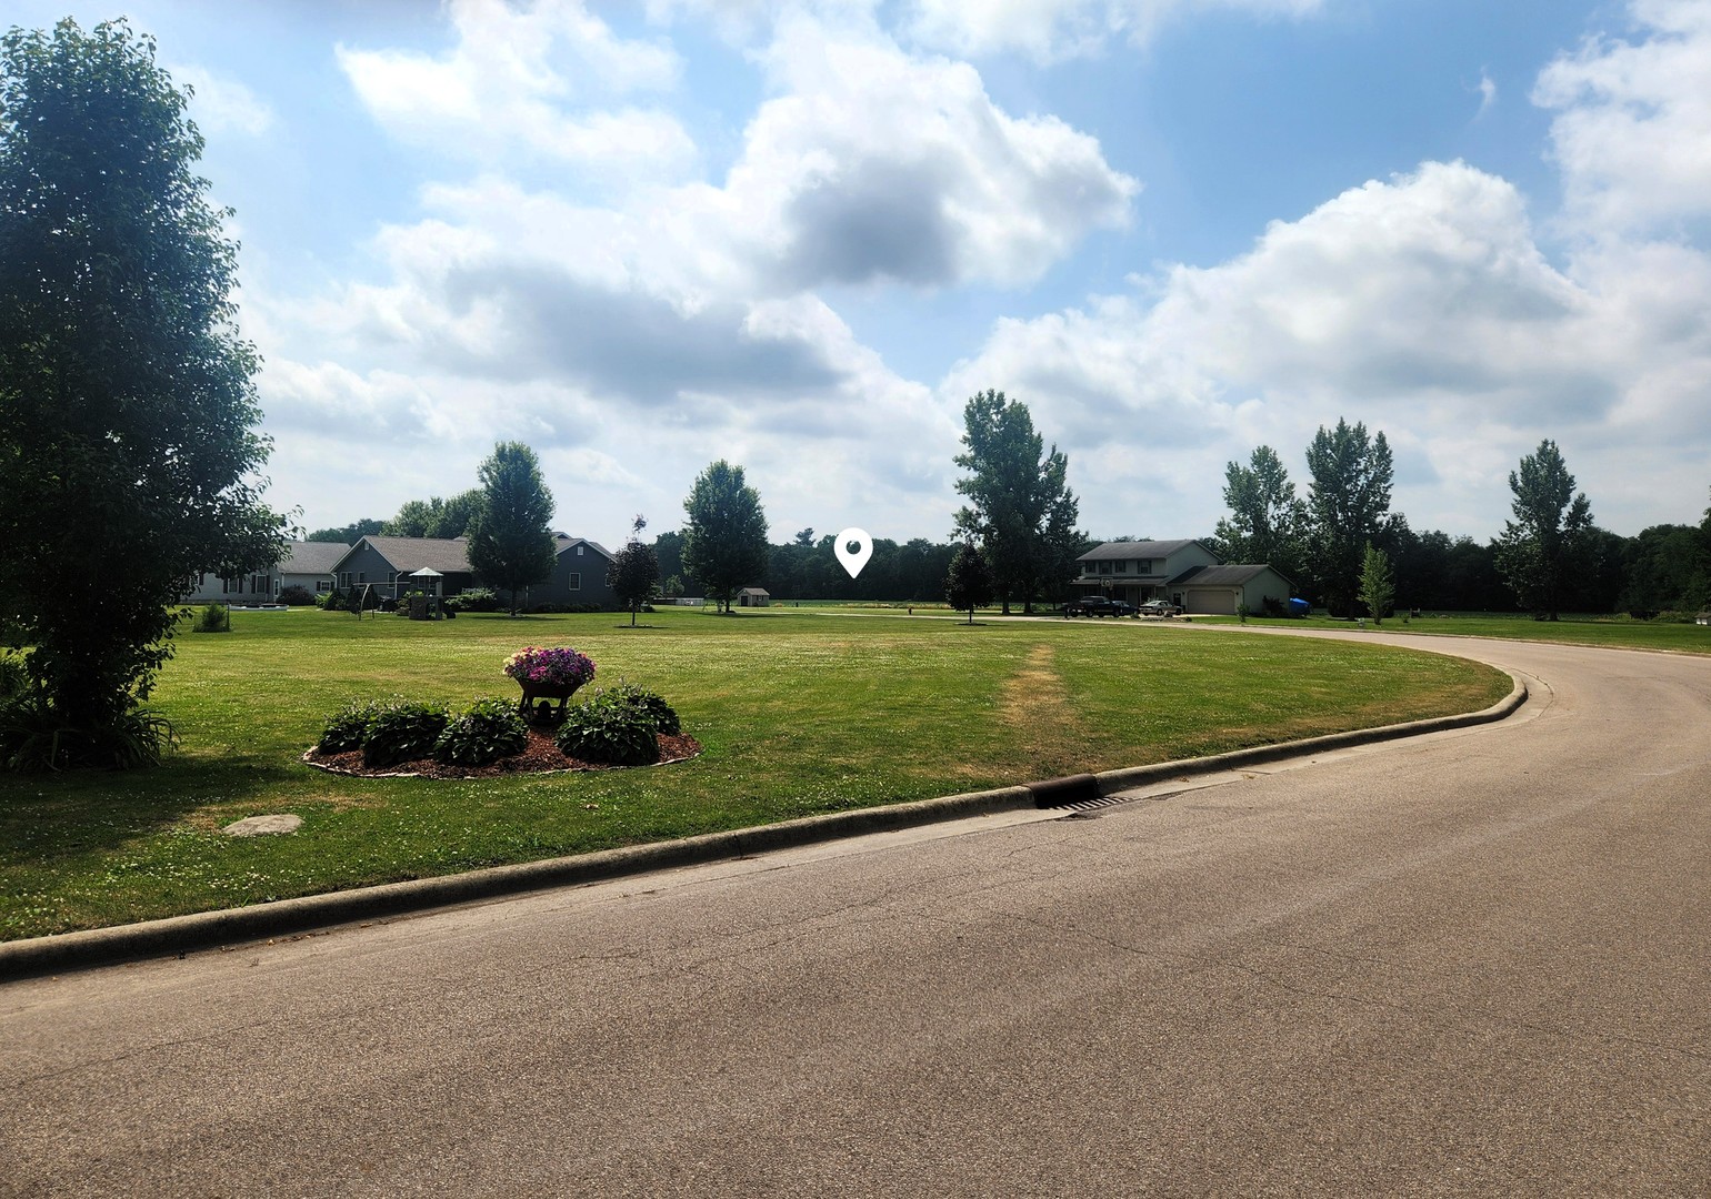
{"type": "Polygon", "coordinates": [[[7,985],[0,1194],[1708,1194],[1711,659],[1456,648],[1523,713],[7,985]]]}

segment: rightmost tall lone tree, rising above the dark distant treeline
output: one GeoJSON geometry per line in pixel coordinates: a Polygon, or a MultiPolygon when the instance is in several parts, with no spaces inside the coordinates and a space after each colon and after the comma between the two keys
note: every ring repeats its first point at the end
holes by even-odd
{"type": "Polygon", "coordinates": [[[1576,494],[1574,475],[1550,438],[1509,472],[1509,491],[1514,520],[1504,522],[1497,539],[1497,568],[1523,607],[1554,621],[1574,566],[1590,547],[1591,503],[1586,493],[1576,494]]]}

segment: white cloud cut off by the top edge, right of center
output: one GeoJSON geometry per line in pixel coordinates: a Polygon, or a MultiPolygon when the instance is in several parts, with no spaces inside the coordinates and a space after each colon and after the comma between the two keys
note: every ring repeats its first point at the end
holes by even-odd
{"type": "Polygon", "coordinates": [[[903,27],[919,44],[967,56],[1021,53],[1040,63],[1097,55],[1117,39],[1143,46],[1167,21],[1208,9],[1305,17],[1323,0],[910,0],[903,27]]]}

